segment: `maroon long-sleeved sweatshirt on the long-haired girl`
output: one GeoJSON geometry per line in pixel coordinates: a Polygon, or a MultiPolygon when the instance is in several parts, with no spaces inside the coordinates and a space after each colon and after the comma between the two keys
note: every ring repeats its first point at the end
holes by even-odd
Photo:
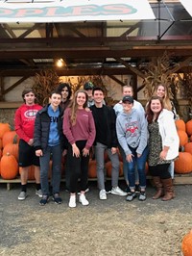
{"type": "Polygon", "coordinates": [[[71,109],[67,108],[63,118],[63,134],[70,144],[76,141],[86,141],[85,148],[89,149],[95,140],[95,123],[91,111],[77,110],[76,124],[70,121],[71,109]]]}

